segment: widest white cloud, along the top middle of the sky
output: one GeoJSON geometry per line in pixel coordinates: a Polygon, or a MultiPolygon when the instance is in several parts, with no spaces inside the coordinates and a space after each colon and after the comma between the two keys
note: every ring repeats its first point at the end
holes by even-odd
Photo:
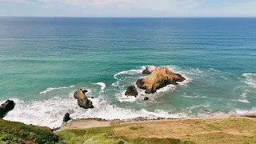
{"type": "Polygon", "coordinates": [[[122,6],[142,10],[174,11],[194,8],[200,0],[38,0],[38,2],[60,3],[77,6],[122,6]]]}

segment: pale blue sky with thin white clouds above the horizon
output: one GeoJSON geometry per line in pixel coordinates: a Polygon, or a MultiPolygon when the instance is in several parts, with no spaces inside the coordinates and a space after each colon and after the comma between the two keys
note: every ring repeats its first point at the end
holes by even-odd
{"type": "Polygon", "coordinates": [[[0,0],[1,17],[256,17],[256,0],[0,0]]]}

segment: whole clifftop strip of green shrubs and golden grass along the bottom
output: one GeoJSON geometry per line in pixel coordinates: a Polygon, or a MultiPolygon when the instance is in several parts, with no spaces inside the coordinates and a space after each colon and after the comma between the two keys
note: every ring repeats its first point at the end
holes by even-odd
{"type": "Polygon", "coordinates": [[[117,126],[95,126],[87,129],[78,127],[55,133],[47,127],[0,120],[0,143],[3,144],[249,144],[256,143],[255,135],[254,115],[250,115],[250,118],[246,116],[121,122],[117,126]]]}

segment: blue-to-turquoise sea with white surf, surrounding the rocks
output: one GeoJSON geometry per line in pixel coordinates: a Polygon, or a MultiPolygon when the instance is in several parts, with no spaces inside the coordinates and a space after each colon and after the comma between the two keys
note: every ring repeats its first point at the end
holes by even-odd
{"type": "Polygon", "coordinates": [[[5,119],[28,124],[59,126],[66,112],[106,119],[255,113],[255,63],[256,18],[0,18],[0,102],[14,99],[5,119]],[[126,86],[151,65],[187,80],[126,98],[126,86]],[[78,88],[90,90],[94,109],[77,106],[78,88]]]}

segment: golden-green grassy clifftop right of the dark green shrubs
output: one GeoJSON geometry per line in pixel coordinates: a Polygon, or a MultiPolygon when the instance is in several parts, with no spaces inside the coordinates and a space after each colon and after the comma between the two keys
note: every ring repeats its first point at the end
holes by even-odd
{"type": "Polygon", "coordinates": [[[66,143],[256,143],[255,118],[198,118],[124,122],[120,126],[62,130],[66,143]]]}

